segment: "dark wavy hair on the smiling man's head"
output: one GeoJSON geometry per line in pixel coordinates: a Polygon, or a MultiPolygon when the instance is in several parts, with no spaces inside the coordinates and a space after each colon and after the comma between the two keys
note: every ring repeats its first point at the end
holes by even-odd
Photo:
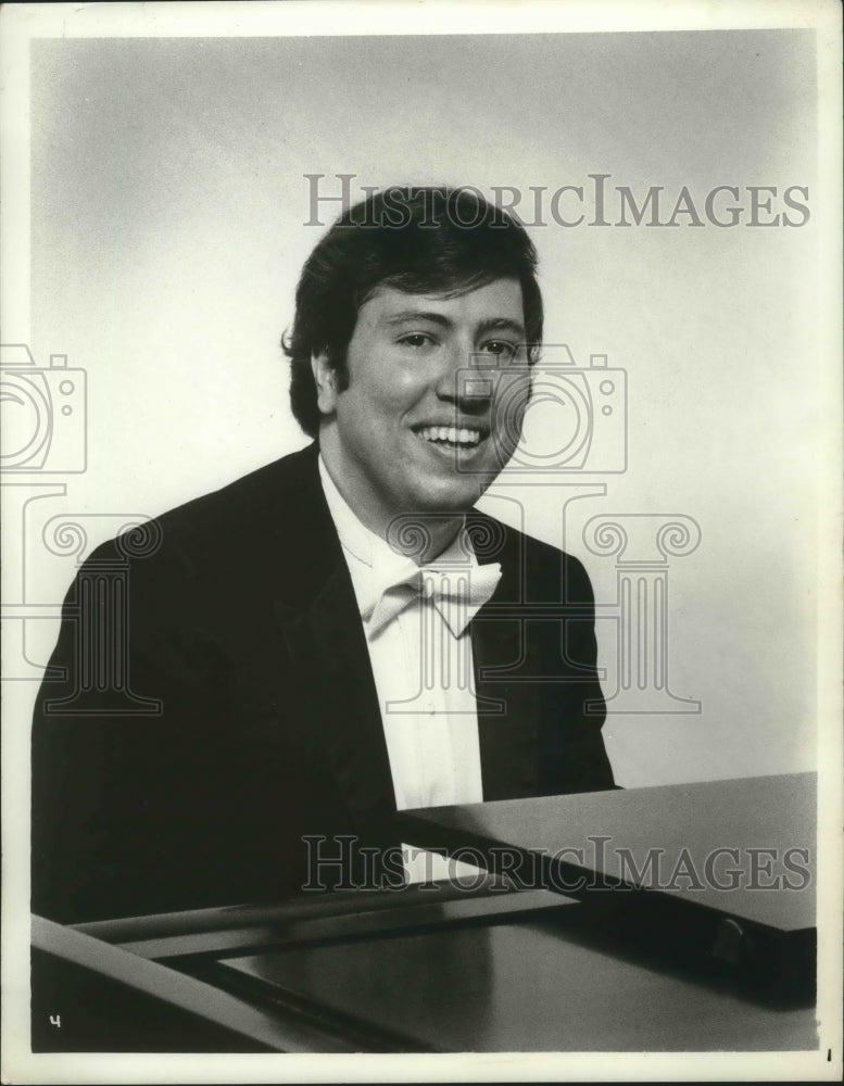
{"type": "Polygon", "coordinates": [[[290,359],[290,405],[308,437],[319,429],[313,354],[325,352],[338,387],[357,311],[380,286],[459,295],[494,279],[521,285],[534,361],[542,342],[537,251],[524,227],[469,188],[393,186],[348,209],[302,268],[295,317],[281,346],[290,359]]]}

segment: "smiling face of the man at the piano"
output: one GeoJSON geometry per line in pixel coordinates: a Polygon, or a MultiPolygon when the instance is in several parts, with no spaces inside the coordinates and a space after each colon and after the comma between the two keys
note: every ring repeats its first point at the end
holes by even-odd
{"type": "Polygon", "coordinates": [[[515,279],[453,298],[383,287],[361,306],[349,387],[336,391],[324,358],[314,366],[328,416],[323,455],[365,523],[381,530],[398,514],[474,505],[518,441],[530,384],[524,344],[515,279]],[[478,379],[457,379],[469,366],[478,379]]]}

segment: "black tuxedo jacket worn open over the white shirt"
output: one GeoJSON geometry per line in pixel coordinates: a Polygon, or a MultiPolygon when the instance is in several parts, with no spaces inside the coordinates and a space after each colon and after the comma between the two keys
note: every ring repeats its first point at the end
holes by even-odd
{"type": "MultiPolygon", "coordinates": [[[[471,623],[484,799],[613,787],[583,567],[480,514],[471,525],[479,560],[503,570],[471,623]]],[[[328,838],[324,856],[338,835],[398,841],[316,446],[155,527],[153,554],[115,541],[88,560],[48,671],[63,678],[36,704],[33,909],[64,922],[278,899],[308,876],[306,836],[328,838]],[[125,616],[98,594],[97,570],[121,563],[125,616]],[[116,700],[97,690],[97,653],[128,684],[116,700]],[[160,710],[135,711],[129,691],[160,710]]]]}

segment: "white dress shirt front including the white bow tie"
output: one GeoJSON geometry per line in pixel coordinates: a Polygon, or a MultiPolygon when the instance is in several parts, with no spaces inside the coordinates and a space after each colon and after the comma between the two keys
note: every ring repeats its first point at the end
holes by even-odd
{"type": "MultiPolygon", "coordinates": [[[[468,623],[494,591],[501,566],[480,567],[462,531],[433,563],[417,567],[358,520],[322,456],[319,477],[366,633],[396,808],[480,803],[468,623]]],[[[411,882],[477,871],[403,848],[411,882]]]]}

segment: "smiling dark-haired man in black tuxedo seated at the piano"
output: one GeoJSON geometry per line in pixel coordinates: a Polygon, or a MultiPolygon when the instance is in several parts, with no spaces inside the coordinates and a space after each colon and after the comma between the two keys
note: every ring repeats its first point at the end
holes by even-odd
{"type": "Polygon", "coordinates": [[[585,571],[473,512],[541,333],[533,247],[478,197],[340,217],[287,348],[315,443],[159,518],[152,555],[99,548],[68,593],[34,723],[36,912],[278,899],[343,839],[333,885],[371,883],[396,809],[613,786],[585,571]],[[123,653],[86,586],[121,560],[122,674],[152,715],[80,680],[91,639],[123,653]]]}

